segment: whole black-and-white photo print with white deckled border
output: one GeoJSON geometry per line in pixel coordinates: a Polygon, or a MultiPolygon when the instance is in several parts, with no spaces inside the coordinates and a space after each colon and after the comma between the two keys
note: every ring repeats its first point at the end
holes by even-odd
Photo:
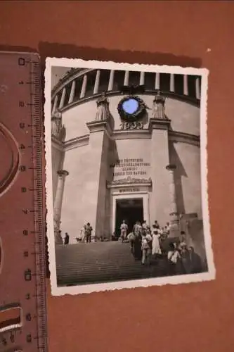
{"type": "Polygon", "coordinates": [[[206,69],[47,58],[54,295],[215,278],[206,69]]]}

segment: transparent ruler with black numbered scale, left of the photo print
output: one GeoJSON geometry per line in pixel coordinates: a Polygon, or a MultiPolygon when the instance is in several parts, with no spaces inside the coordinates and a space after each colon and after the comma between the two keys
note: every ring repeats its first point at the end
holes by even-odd
{"type": "Polygon", "coordinates": [[[0,351],[47,351],[39,55],[0,52],[0,351]]]}

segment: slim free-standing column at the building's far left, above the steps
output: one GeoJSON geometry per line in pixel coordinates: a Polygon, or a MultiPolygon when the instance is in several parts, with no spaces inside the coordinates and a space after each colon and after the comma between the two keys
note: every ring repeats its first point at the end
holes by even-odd
{"type": "Polygon", "coordinates": [[[56,189],[56,198],[53,205],[53,223],[54,223],[54,232],[55,232],[55,242],[56,244],[63,244],[63,240],[60,235],[60,219],[61,219],[65,177],[69,175],[69,172],[67,172],[66,170],[59,170],[57,173],[58,173],[58,184],[56,189]]]}

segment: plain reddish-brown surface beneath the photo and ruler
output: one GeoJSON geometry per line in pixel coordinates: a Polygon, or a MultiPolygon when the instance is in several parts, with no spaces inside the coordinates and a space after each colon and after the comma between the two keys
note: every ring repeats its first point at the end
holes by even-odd
{"type": "Polygon", "coordinates": [[[208,68],[216,280],[51,297],[49,352],[234,351],[232,2],[4,2],[0,49],[208,68]],[[210,49],[210,50],[207,50],[210,49]]]}

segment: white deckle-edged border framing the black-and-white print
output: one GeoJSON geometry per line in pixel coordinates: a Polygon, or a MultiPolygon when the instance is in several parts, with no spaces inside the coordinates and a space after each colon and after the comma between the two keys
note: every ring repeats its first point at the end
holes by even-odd
{"type": "Polygon", "coordinates": [[[209,222],[208,180],[207,180],[207,92],[209,70],[206,68],[182,68],[169,65],[145,65],[130,63],[115,63],[112,61],[84,61],[73,58],[46,58],[45,69],[45,149],[46,149],[46,223],[48,237],[49,270],[51,272],[51,294],[62,296],[65,294],[89,294],[98,291],[112,291],[115,289],[134,289],[136,287],[152,287],[164,284],[186,284],[191,282],[210,281],[216,278],[214,255],[212,251],[212,237],[209,222]],[[174,73],[181,75],[200,75],[202,77],[200,99],[200,163],[202,184],[202,218],[204,228],[204,244],[207,254],[208,272],[191,275],[175,275],[155,277],[149,279],[132,279],[121,282],[101,284],[84,284],[71,287],[58,287],[56,275],[56,249],[53,230],[53,181],[51,160],[51,68],[54,66],[67,68],[96,68],[110,70],[131,70],[150,73],[174,73]]]}

